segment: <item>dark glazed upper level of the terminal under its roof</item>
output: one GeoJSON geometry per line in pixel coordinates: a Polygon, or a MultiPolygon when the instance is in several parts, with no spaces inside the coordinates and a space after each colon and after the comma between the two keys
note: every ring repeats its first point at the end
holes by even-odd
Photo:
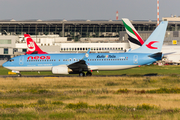
{"type": "MultiPolygon", "coordinates": [[[[131,21],[137,31],[153,31],[156,21],[131,21]]],[[[179,22],[169,22],[167,31],[179,31],[179,22]]],[[[78,41],[80,38],[113,38],[125,31],[121,20],[109,21],[0,21],[0,35],[59,35],[78,41]]]]}

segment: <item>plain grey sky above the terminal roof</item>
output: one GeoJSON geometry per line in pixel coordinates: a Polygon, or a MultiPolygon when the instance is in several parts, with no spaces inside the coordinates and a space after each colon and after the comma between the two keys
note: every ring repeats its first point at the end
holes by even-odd
{"type": "MultiPolygon", "coordinates": [[[[157,0],[0,0],[0,20],[156,20],[157,0]]],[[[180,16],[180,0],[160,0],[160,19],[180,16]]]]}

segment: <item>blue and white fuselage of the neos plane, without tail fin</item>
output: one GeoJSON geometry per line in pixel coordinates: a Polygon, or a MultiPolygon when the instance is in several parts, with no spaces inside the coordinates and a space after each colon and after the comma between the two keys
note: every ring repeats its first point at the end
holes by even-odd
{"type": "MultiPolygon", "coordinates": [[[[69,66],[80,61],[86,54],[34,54],[12,58],[3,64],[7,69],[14,71],[51,71],[52,67],[69,66]]],[[[161,57],[148,57],[145,53],[89,53],[86,60],[88,70],[121,70],[139,65],[145,65],[160,60],[161,57]]],[[[78,69],[78,68],[77,68],[78,69]]]]}

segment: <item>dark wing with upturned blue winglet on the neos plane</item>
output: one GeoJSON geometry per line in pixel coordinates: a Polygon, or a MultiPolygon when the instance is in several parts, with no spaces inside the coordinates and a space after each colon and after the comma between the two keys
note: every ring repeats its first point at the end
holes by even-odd
{"type": "Polygon", "coordinates": [[[75,63],[72,63],[68,65],[67,67],[72,69],[73,71],[82,71],[82,70],[88,70],[88,65],[86,64],[86,61],[89,57],[90,49],[87,51],[87,53],[84,55],[84,57],[75,63]]]}

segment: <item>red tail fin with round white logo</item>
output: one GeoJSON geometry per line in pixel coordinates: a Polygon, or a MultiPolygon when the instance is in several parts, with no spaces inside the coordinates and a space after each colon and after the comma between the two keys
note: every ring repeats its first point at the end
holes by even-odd
{"type": "Polygon", "coordinates": [[[26,52],[26,54],[48,54],[38,47],[38,45],[33,41],[29,34],[24,34],[24,37],[26,39],[28,47],[28,51],[26,52]]]}

